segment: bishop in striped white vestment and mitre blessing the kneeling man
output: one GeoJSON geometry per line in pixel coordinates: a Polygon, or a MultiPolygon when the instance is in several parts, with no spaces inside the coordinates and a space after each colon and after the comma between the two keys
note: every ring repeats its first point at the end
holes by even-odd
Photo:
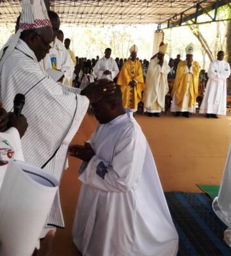
{"type": "MultiPolygon", "coordinates": [[[[29,127],[22,138],[24,159],[61,180],[68,145],[83,120],[89,100],[99,100],[111,93],[115,85],[108,80],[100,81],[98,86],[90,84],[81,91],[60,86],[46,77],[39,61],[49,52],[52,39],[44,1],[23,0],[19,30],[8,42],[0,61],[0,97],[3,108],[12,111],[15,95],[25,95],[23,112],[29,127]]],[[[59,194],[46,224],[64,227],[59,194]]]]}

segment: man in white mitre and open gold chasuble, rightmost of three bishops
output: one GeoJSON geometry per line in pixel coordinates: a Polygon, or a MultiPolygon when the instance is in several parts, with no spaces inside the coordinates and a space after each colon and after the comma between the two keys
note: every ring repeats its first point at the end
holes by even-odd
{"type": "Polygon", "coordinates": [[[189,118],[189,113],[196,112],[196,97],[198,96],[198,83],[200,64],[193,60],[194,45],[186,47],[186,60],[180,61],[177,66],[177,74],[171,92],[171,112],[175,116],[182,113],[189,118]]]}

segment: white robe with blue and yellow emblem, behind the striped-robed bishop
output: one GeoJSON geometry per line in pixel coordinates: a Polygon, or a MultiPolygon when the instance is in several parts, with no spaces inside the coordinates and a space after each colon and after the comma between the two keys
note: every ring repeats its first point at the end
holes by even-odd
{"type": "Polygon", "coordinates": [[[45,71],[47,71],[49,68],[53,68],[65,72],[63,84],[71,86],[74,72],[74,63],[71,60],[67,49],[63,43],[58,40],[58,38],[54,38],[54,42],[51,44],[51,49],[45,56],[44,60],[40,61],[40,66],[45,71]]]}

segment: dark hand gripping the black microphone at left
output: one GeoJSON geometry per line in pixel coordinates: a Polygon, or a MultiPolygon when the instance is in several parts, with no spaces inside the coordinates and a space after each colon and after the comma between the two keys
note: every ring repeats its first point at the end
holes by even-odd
{"type": "Polygon", "coordinates": [[[24,136],[28,129],[28,122],[24,115],[16,116],[14,113],[9,113],[9,127],[15,127],[19,131],[20,138],[24,136]]]}

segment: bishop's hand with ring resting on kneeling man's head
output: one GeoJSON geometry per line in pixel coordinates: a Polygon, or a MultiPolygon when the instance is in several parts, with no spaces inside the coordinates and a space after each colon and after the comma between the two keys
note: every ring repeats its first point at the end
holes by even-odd
{"type": "Polygon", "coordinates": [[[95,83],[88,84],[88,86],[81,91],[81,95],[88,97],[92,104],[102,99],[105,95],[113,94],[115,88],[116,86],[113,81],[100,79],[95,83]]]}

